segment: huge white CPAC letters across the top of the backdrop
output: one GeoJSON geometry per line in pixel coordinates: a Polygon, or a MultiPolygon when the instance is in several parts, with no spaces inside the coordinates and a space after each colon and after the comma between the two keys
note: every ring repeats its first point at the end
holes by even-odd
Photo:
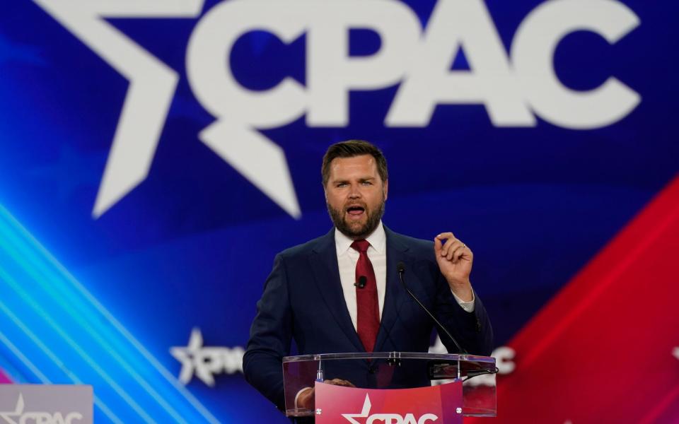
{"type": "Polygon", "coordinates": [[[306,113],[309,126],[346,126],[350,90],[400,81],[387,126],[426,126],[436,105],[477,103],[496,126],[535,126],[534,112],[552,124],[588,129],[617,122],[640,101],[614,77],[594,90],[576,91],[563,86],[553,69],[554,51],[570,33],[589,30],[613,43],[639,25],[617,1],[545,1],[518,28],[511,60],[482,0],[439,0],[422,37],[417,17],[402,3],[359,3],[361,13],[356,0],[304,4],[304,13],[291,4],[261,7],[245,0],[212,8],[191,37],[187,73],[197,98],[217,117],[214,125],[230,122],[254,131],[306,113]],[[350,57],[352,28],[377,33],[378,52],[350,57]],[[228,66],[225,72],[231,47],[251,30],[266,30],[283,42],[307,34],[306,88],[284,78],[270,90],[252,91],[240,86],[228,66]],[[449,70],[461,49],[470,70],[449,70]]]}

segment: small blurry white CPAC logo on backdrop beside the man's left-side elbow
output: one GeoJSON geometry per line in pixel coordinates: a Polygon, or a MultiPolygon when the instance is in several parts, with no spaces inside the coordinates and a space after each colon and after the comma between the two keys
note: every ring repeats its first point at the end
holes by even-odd
{"type": "Polygon", "coordinates": [[[179,373],[182,384],[188,384],[195,374],[200,381],[214,387],[214,375],[243,372],[243,348],[203,346],[203,335],[197,328],[192,329],[188,346],[175,346],[170,348],[170,353],[182,363],[179,373]]]}

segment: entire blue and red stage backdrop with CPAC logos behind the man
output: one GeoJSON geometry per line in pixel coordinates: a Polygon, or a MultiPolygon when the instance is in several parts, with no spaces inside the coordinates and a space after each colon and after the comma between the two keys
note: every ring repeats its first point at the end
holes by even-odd
{"type": "Polygon", "coordinates": [[[255,302],[331,228],[327,146],[366,139],[385,225],[475,252],[494,422],[677,422],[677,16],[5,1],[0,380],[93,384],[98,423],[285,423],[240,372],[255,302]]]}

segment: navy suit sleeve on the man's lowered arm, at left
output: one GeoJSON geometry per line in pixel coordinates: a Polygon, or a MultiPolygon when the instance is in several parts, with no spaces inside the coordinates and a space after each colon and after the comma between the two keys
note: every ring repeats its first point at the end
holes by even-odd
{"type": "Polygon", "coordinates": [[[282,359],[289,355],[292,314],[283,257],[274,259],[257,302],[257,315],[250,327],[250,341],[243,355],[245,379],[280,410],[285,409],[282,359]]]}

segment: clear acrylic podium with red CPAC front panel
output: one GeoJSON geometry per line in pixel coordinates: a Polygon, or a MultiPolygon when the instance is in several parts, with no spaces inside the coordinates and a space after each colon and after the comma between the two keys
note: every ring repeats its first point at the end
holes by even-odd
{"type": "Polygon", "coordinates": [[[316,423],[461,423],[463,416],[497,412],[495,358],[489,356],[373,352],[286,356],[286,416],[316,423]],[[324,383],[332,379],[353,387],[324,383]],[[315,390],[313,408],[296,396],[315,390]]]}

